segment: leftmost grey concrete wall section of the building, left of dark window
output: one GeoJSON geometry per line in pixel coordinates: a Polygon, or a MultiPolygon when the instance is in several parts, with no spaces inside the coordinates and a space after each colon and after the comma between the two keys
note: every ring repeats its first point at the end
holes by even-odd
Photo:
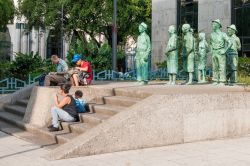
{"type": "Polygon", "coordinates": [[[165,48],[169,38],[168,27],[176,25],[177,3],[175,0],[152,0],[152,69],[157,62],[166,59],[165,48]]]}

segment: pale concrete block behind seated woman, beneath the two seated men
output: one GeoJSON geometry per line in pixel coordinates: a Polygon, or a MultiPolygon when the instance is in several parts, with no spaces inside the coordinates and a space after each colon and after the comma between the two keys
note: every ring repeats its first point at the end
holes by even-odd
{"type": "MultiPolygon", "coordinates": [[[[110,88],[103,87],[79,87],[71,88],[70,93],[74,94],[76,90],[83,91],[83,98],[88,103],[103,102],[103,96],[113,96],[114,92],[110,88]]],[[[54,105],[54,96],[59,91],[59,87],[38,87],[32,90],[30,101],[28,103],[23,122],[38,127],[46,126],[50,121],[50,109],[54,105]]]]}

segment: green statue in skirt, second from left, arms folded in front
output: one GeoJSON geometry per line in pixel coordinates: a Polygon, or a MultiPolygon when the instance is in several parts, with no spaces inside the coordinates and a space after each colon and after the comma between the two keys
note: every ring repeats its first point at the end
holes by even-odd
{"type": "Polygon", "coordinates": [[[170,38],[168,40],[167,48],[166,48],[166,56],[167,56],[167,67],[169,74],[169,85],[176,84],[176,75],[178,72],[178,45],[177,40],[178,36],[176,34],[176,28],[174,25],[169,26],[168,29],[170,38]]]}

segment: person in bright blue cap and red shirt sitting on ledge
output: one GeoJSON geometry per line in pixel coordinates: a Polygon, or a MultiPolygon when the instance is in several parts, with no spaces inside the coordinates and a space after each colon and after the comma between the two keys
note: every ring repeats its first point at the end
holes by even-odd
{"type": "Polygon", "coordinates": [[[73,86],[90,85],[93,79],[93,73],[89,62],[84,61],[82,56],[75,54],[72,63],[76,64],[74,72],[71,73],[71,82],[73,86]]]}

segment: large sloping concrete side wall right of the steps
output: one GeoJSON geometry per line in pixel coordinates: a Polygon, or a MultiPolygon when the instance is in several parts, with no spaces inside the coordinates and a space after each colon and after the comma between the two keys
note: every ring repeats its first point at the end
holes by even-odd
{"type": "Polygon", "coordinates": [[[53,150],[64,159],[242,136],[250,133],[250,94],[152,95],[53,150]]]}

